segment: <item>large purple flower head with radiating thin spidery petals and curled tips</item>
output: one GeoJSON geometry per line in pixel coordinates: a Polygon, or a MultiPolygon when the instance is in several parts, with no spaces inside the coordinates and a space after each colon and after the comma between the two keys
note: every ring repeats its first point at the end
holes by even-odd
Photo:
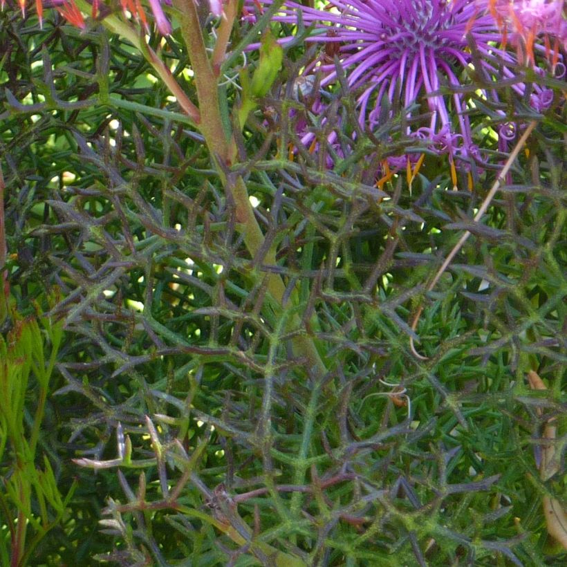
{"type": "MultiPolygon", "coordinates": [[[[257,0],[248,1],[248,12],[253,12],[257,0]]],[[[411,125],[405,134],[448,155],[454,167],[454,158],[470,165],[480,155],[472,139],[470,104],[458,92],[469,68],[480,60],[482,68],[476,71],[489,81],[517,75],[517,59],[499,48],[501,30],[488,10],[489,1],[328,0],[319,10],[288,0],[275,19],[297,23],[301,12],[305,26],[315,26],[306,41],[325,49],[306,73],[322,71],[321,85],[328,86],[337,81],[333,57],[338,57],[348,86],[357,93],[363,128],[378,124],[386,102],[413,106],[417,111],[408,111],[411,125]],[[441,92],[444,88],[447,94],[441,92]],[[424,112],[427,122],[417,118],[424,112]]],[[[526,87],[516,83],[512,89],[523,95],[526,87]]],[[[537,109],[549,102],[541,91],[533,87],[531,100],[537,109]]],[[[493,89],[483,91],[483,96],[497,97],[493,89]]]]}

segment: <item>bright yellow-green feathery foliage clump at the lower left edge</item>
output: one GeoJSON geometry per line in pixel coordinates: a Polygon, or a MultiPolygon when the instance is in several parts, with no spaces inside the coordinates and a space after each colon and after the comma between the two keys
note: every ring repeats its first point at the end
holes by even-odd
{"type": "Polygon", "coordinates": [[[40,328],[35,318],[12,319],[6,340],[0,336],[0,554],[3,565],[24,565],[64,519],[73,487],[62,496],[48,456],[37,456],[63,323],[39,317],[40,328]]]}

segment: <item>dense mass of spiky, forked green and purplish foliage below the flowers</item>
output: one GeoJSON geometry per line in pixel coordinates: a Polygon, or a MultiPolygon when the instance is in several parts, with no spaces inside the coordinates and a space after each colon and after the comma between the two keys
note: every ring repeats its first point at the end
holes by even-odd
{"type": "MultiPolygon", "coordinates": [[[[564,478],[537,470],[551,418],[565,447],[561,106],[471,226],[497,171],[452,191],[427,156],[377,188],[389,136],[407,144],[399,120],[353,141],[351,94],[313,115],[292,88],[306,61],[286,60],[283,84],[268,40],[226,173],[257,204],[267,245],[252,257],[203,139],[129,44],[53,15],[41,32],[0,21],[21,313],[0,336],[3,564],[564,562],[541,510],[543,496],[565,501],[564,478]],[[346,159],[326,143],[337,123],[346,159]],[[463,229],[472,238],[426,293],[463,229]],[[529,370],[547,391],[530,390],[529,370]]],[[[191,93],[178,38],[164,51],[191,93]]]]}

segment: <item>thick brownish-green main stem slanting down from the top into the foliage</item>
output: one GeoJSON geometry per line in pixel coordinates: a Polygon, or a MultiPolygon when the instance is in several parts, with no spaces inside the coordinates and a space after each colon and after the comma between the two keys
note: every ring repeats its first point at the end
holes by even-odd
{"type": "MultiPolygon", "coordinates": [[[[235,180],[231,180],[225,175],[226,167],[232,165],[236,159],[236,144],[232,135],[225,132],[223,127],[219,104],[218,77],[207,55],[196,6],[194,0],[174,0],[174,6],[180,13],[181,32],[194,70],[198,106],[201,112],[199,129],[205,137],[205,142],[223,181],[225,191],[234,203],[236,221],[243,227],[242,233],[246,248],[252,257],[255,257],[263,247],[265,240],[254,216],[254,209],[250,204],[248,190],[243,178],[238,176],[235,180]]],[[[276,265],[276,255],[273,248],[268,250],[264,261],[273,266],[276,265]]],[[[268,274],[268,291],[278,304],[283,306],[286,286],[279,275],[268,274]]],[[[290,300],[294,296],[295,294],[292,294],[290,300]]],[[[297,315],[293,317],[292,322],[299,323],[299,317],[297,315]]],[[[295,337],[292,339],[292,346],[297,355],[307,359],[309,368],[315,371],[319,378],[326,374],[325,364],[310,337],[295,337]]]]}

